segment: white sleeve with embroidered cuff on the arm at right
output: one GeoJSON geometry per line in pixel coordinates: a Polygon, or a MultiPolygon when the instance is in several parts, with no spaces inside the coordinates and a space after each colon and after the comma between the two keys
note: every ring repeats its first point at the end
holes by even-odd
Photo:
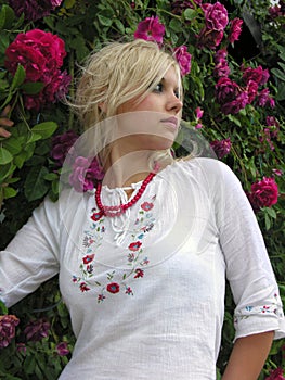
{"type": "Polygon", "coordinates": [[[251,205],[233,172],[222,165],[217,208],[226,278],[235,302],[235,339],[275,331],[285,337],[277,282],[251,205]]]}

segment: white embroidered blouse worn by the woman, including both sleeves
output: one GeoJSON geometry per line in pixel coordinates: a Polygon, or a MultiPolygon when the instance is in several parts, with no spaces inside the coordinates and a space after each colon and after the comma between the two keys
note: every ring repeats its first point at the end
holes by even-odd
{"type": "MultiPolygon", "coordinates": [[[[103,187],[103,204],[120,201],[122,189],[103,187]]],[[[8,306],[60,273],[77,337],[61,380],[216,379],[225,275],[236,338],[285,337],[255,214],[221,162],[177,162],[125,215],[92,220],[95,212],[94,192],[46,200],[0,255],[8,306]]]]}

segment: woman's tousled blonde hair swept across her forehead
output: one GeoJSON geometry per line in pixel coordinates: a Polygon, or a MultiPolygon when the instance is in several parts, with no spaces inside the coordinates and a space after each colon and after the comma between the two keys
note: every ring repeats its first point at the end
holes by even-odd
{"type": "MultiPolygon", "coordinates": [[[[179,65],[172,54],[160,49],[157,43],[143,39],[113,42],[91,54],[85,67],[81,67],[82,74],[73,104],[82,127],[95,128],[98,123],[116,116],[118,109],[130,100],[135,99],[140,103],[171,66],[176,69],[182,99],[179,65]]],[[[101,136],[95,140],[102,143],[101,136]]],[[[172,160],[169,150],[161,153],[172,160]]],[[[100,156],[102,164],[106,154],[105,149],[104,160],[102,154],[100,156]]]]}

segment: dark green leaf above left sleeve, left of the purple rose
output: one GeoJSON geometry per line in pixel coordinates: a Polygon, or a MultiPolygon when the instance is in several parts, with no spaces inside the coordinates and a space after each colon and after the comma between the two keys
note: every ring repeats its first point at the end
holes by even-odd
{"type": "Polygon", "coordinates": [[[28,173],[24,185],[24,192],[29,202],[44,197],[48,192],[49,185],[44,179],[48,173],[49,170],[44,166],[34,166],[28,173]]]}

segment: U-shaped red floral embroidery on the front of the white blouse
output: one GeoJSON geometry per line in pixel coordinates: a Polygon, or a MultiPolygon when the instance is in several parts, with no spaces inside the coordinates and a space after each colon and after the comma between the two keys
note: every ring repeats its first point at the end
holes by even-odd
{"type": "Polygon", "coordinates": [[[152,197],[151,202],[143,202],[139,210],[139,217],[134,221],[134,229],[129,232],[131,242],[126,246],[126,264],[130,269],[113,270],[106,274],[104,281],[96,281],[95,256],[102,244],[105,232],[105,218],[98,212],[92,210],[89,229],[85,230],[82,238],[82,258],[79,265],[80,276],[73,276],[72,281],[79,286],[80,291],[96,291],[98,303],[102,303],[107,299],[107,294],[125,293],[133,295],[133,290],[128,281],[139,280],[144,277],[144,267],[150,264],[150,259],[143,257],[143,238],[155,226],[155,218],[152,210],[156,197],[152,197]],[[100,217],[99,217],[100,216],[100,217]]]}

